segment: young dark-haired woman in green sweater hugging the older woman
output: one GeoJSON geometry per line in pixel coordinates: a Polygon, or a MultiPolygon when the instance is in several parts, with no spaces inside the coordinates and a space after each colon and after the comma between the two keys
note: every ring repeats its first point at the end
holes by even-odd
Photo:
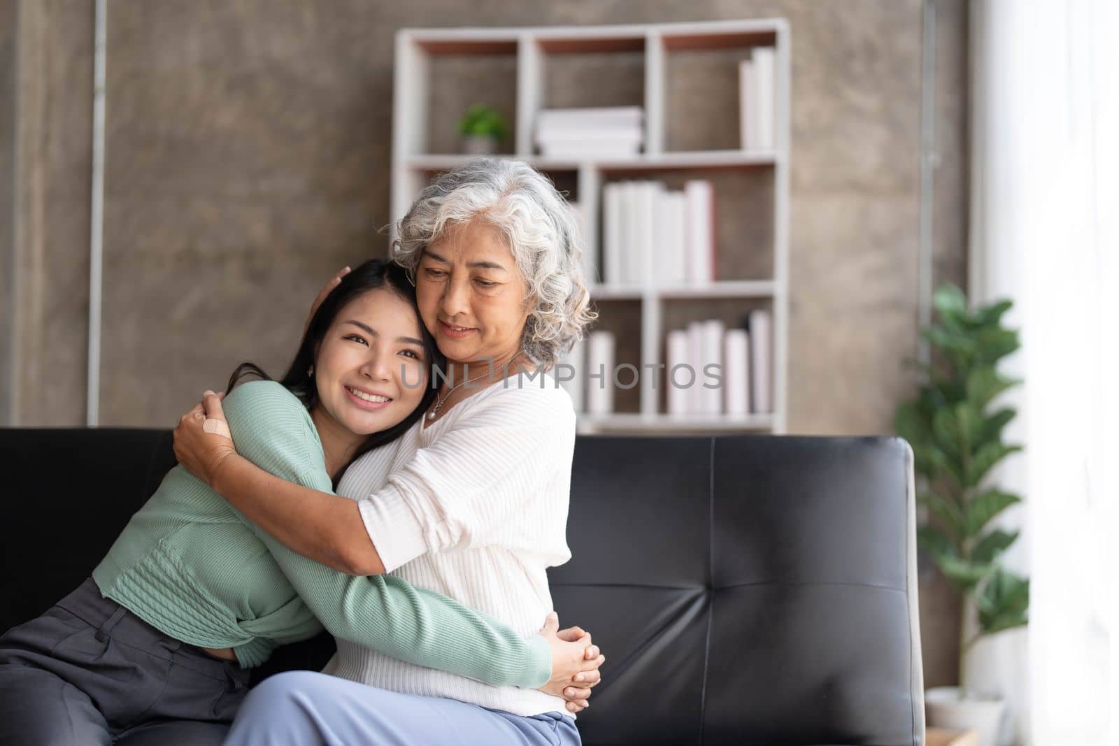
{"type": "MultiPolygon", "coordinates": [[[[330,493],[354,459],[417,422],[438,355],[404,272],[368,262],[317,309],[282,380],[231,391],[228,427],[252,463],[330,493]]],[[[261,372],[239,367],[231,388],[246,370],[261,372]]],[[[92,578],[0,638],[0,742],[220,743],[248,669],[323,626],[496,686],[555,693],[595,668],[590,641],[561,640],[555,623],[526,639],[401,578],[307,559],[176,466],[92,578]]]]}

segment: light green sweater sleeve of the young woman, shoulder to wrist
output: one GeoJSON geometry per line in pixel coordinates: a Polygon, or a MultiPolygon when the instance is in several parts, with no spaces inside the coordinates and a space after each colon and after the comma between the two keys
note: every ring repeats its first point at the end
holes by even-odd
{"type": "MultiPolygon", "coordinates": [[[[224,409],[241,455],[282,479],[332,493],[314,425],[286,389],[244,384],[226,397],[224,409]]],[[[486,614],[394,576],[354,577],[320,565],[235,512],[336,638],[495,686],[535,688],[551,678],[552,651],[540,635],[525,640],[486,614]]]]}

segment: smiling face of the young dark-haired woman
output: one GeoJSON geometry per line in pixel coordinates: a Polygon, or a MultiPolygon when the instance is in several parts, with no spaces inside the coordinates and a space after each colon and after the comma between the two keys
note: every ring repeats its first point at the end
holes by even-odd
{"type": "Polygon", "coordinates": [[[429,361],[412,304],[372,290],[341,308],[314,360],[311,416],[339,436],[368,435],[403,422],[423,398],[429,361]]]}

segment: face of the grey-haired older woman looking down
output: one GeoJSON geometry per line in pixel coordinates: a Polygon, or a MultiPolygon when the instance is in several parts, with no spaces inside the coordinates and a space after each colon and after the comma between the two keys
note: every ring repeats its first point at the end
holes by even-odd
{"type": "Polygon", "coordinates": [[[492,358],[500,365],[520,350],[525,280],[500,234],[480,220],[453,227],[423,249],[416,300],[451,362],[492,358]]]}

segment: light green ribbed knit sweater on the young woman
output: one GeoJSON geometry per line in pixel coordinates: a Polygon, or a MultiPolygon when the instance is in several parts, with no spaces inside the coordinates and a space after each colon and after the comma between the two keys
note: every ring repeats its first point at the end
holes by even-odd
{"type": "MultiPolygon", "coordinates": [[[[318,431],[273,381],[223,403],[237,453],[282,479],[331,492],[318,431]]],[[[540,635],[389,576],[354,577],[285,548],[181,466],[125,526],[93,572],[102,594],[164,634],[233,648],[243,668],[326,627],[410,663],[496,686],[535,688],[552,673],[540,635]]]]}

